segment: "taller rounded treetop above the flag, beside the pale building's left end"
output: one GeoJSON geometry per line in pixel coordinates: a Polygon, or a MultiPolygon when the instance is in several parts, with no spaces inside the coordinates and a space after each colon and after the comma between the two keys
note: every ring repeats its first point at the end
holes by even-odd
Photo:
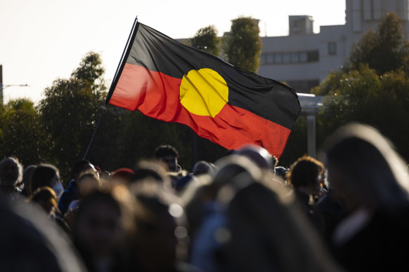
{"type": "Polygon", "coordinates": [[[239,17],[231,22],[231,32],[223,41],[226,61],[249,72],[257,72],[261,54],[260,29],[257,20],[251,17],[239,17]]]}

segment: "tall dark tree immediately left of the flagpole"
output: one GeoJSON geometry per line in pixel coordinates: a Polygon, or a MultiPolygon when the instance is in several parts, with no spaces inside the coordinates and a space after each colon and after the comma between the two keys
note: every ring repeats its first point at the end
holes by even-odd
{"type": "Polygon", "coordinates": [[[39,114],[51,137],[51,159],[67,178],[82,158],[105,100],[100,57],[88,53],[70,79],[57,79],[44,91],[39,114]]]}

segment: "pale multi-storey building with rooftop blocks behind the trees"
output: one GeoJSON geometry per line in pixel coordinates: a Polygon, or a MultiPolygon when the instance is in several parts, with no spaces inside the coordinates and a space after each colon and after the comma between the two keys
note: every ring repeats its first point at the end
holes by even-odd
{"type": "Polygon", "coordinates": [[[313,33],[313,18],[289,16],[288,36],[263,37],[258,74],[284,81],[297,93],[309,93],[327,75],[339,69],[362,34],[377,29],[382,14],[394,12],[409,34],[408,0],[346,0],[345,25],[320,26],[313,33]]]}

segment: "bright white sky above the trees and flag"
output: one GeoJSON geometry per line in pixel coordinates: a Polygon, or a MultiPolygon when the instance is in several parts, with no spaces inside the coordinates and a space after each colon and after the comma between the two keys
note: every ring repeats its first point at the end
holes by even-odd
{"type": "Polygon", "coordinates": [[[239,16],[259,19],[261,36],[286,36],[289,15],[312,16],[318,33],[322,25],[345,24],[345,0],[0,0],[4,102],[39,102],[90,51],[100,54],[109,87],[136,16],[173,39],[188,39],[209,25],[221,36],[239,16]]]}

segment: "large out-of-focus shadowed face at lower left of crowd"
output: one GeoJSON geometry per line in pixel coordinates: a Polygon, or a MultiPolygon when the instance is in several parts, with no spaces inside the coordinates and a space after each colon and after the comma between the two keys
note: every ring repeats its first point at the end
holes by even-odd
{"type": "Polygon", "coordinates": [[[119,212],[103,201],[89,205],[77,218],[77,239],[94,256],[108,256],[122,238],[119,212]]]}

